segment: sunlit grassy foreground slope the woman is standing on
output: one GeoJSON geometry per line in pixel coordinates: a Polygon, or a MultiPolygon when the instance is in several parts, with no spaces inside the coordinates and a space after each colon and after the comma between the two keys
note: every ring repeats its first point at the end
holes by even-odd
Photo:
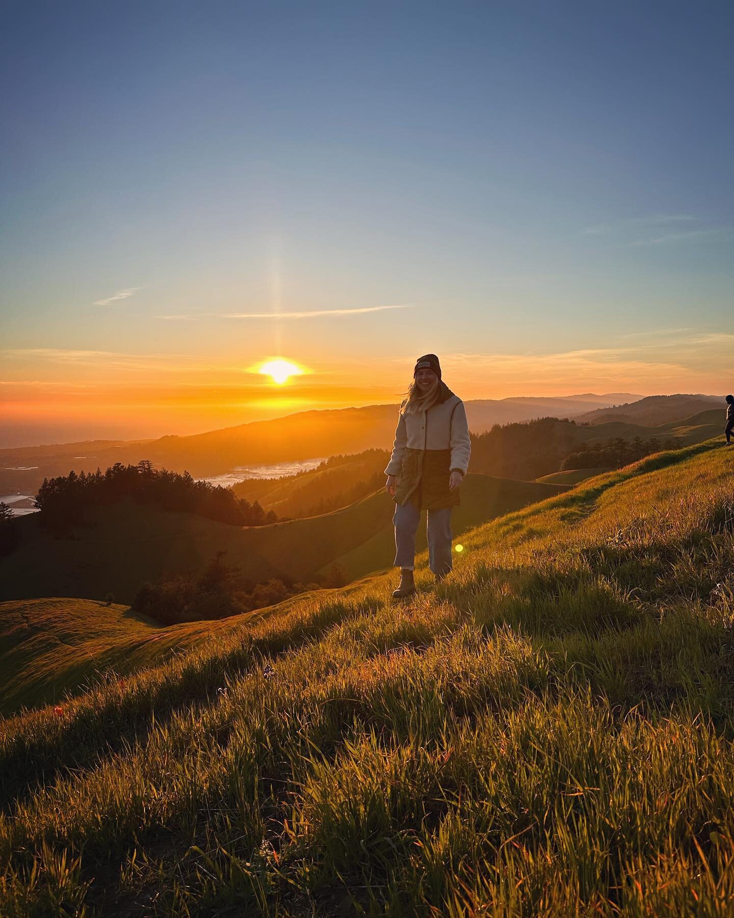
{"type": "Polygon", "coordinates": [[[0,723],[0,913],[728,915],[734,455],[0,723]],[[272,667],[272,676],[267,676],[272,667]]]}

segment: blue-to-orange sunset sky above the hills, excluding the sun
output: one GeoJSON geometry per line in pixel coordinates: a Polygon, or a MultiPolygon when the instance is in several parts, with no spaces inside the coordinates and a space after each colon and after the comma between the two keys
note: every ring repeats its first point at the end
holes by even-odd
{"type": "Polygon", "coordinates": [[[151,387],[236,391],[232,423],[391,401],[427,351],[464,397],[728,391],[733,26],[724,3],[10,4],[12,423],[94,426],[116,386],[138,432],[168,432],[151,387]],[[270,356],[312,371],[282,406],[270,356]]]}

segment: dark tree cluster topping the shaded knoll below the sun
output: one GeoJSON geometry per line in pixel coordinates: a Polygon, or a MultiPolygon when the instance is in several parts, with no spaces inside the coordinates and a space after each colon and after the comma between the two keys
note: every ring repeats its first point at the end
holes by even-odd
{"type": "Polygon", "coordinates": [[[44,478],[36,495],[41,521],[54,531],[64,531],[83,521],[87,507],[130,499],[161,509],[184,510],[210,520],[234,526],[261,526],[276,522],[271,510],[266,513],[255,500],[238,498],[228,487],[195,481],[188,473],[179,475],[166,469],[155,469],[149,460],[138,465],[115,463],[103,474],[94,473],[44,478]]]}

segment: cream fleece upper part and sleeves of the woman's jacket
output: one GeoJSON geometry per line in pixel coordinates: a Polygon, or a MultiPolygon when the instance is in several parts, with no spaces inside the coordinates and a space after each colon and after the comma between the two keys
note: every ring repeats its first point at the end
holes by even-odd
{"type": "Polygon", "coordinates": [[[401,414],[395,428],[393,454],[385,475],[397,475],[403,463],[403,454],[411,450],[451,451],[450,468],[458,468],[463,475],[469,466],[472,441],[464,403],[459,396],[451,396],[428,411],[419,414],[401,414]]]}

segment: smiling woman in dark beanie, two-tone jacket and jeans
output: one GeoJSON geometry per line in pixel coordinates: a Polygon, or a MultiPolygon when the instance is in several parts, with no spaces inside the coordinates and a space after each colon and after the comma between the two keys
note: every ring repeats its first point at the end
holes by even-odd
{"type": "Polygon", "coordinates": [[[464,403],[441,380],[439,358],[435,353],[418,357],[384,470],[385,488],[397,504],[393,564],[400,567],[400,586],[395,599],[416,592],[413,567],[422,509],[428,510],[428,566],[437,582],[451,570],[451,509],[459,503],[471,450],[464,403]]]}

